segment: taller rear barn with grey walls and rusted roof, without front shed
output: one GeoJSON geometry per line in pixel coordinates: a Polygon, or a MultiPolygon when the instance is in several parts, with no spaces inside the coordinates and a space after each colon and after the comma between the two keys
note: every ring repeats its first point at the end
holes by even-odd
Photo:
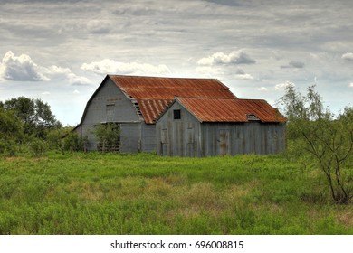
{"type": "Polygon", "coordinates": [[[87,139],[86,149],[100,149],[93,126],[119,126],[116,150],[123,153],[157,151],[157,117],[176,96],[236,98],[219,80],[107,75],[93,93],[75,131],[87,139]]]}

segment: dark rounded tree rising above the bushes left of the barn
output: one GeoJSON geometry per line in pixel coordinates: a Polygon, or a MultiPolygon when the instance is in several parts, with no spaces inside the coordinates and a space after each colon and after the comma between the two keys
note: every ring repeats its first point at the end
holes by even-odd
{"type": "Polygon", "coordinates": [[[14,111],[24,122],[24,134],[27,136],[44,138],[46,130],[62,126],[52,114],[50,106],[41,99],[12,98],[6,100],[3,107],[14,111]]]}

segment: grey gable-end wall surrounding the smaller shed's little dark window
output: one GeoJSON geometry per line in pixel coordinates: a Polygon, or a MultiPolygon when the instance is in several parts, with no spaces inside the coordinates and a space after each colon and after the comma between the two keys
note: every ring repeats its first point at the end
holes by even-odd
{"type": "Polygon", "coordinates": [[[177,102],[159,118],[156,127],[158,155],[200,155],[200,123],[177,102]],[[180,110],[180,119],[174,119],[174,110],[180,110]]]}

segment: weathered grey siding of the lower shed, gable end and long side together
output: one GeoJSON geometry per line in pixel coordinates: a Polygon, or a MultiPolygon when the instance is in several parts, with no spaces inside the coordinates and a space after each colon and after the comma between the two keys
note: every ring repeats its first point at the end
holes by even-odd
{"type": "Polygon", "coordinates": [[[285,125],[280,123],[200,123],[177,102],[157,121],[159,155],[266,155],[284,149],[285,125]],[[176,109],[180,119],[174,119],[176,109]]]}

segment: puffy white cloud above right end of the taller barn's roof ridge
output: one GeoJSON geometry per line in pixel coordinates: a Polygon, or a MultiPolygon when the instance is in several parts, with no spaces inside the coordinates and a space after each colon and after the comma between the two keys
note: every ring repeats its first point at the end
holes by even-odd
{"type": "Polygon", "coordinates": [[[211,56],[200,59],[197,61],[197,64],[202,66],[214,66],[223,64],[253,64],[255,62],[256,61],[247,53],[243,52],[243,50],[239,50],[229,54],[215,52],[211,56]]]}

